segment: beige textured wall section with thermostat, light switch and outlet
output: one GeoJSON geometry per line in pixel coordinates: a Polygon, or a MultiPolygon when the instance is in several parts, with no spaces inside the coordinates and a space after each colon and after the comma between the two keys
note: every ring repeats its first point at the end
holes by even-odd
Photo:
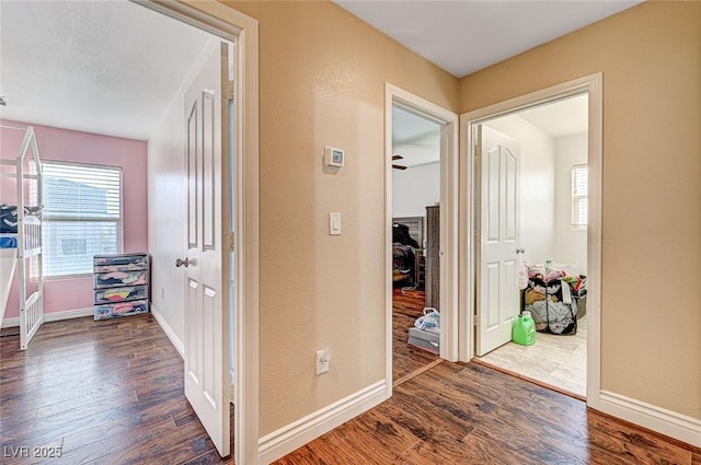
{"type": "Polygon", "coordinates": [[[265,435],[384,377],[384,83],[455,111],[458,80],[330,2],[229,4],[260,22],[265,435]]]}

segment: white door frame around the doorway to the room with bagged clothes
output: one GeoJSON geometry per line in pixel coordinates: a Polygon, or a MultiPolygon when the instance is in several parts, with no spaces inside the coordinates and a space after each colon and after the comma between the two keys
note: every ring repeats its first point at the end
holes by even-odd
{"type": "Polygon", "coordinates": [[[589,132],[588,167],[589,200],[587,228],[587,405],[597,408],[601,394],[601,162],[604,131],[604,75],[598,72],[543,89],[530,94],[460,115],[460,321],[467,322],[460,334],[460,360],[474,356],[474,141],[472,127],[486,119],[520,109],[588,93],[589,132]]]}

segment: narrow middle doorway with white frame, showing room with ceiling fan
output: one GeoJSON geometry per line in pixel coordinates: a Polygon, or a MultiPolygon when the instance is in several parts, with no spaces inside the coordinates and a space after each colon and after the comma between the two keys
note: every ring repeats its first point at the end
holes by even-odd
{"type": "Polygon", "coordinates": [[[391,84],[384,108],[386,367],[391,396],[398,382],[440,359],[457,360],[458,117],[391,84]],[[439,328],[435,319],[424,319],[427,325],[416,328],[422,333],[410,335],[424,310],[430,312],[427,307],[439,314],[433,316],[438,316],[439,328]]]}

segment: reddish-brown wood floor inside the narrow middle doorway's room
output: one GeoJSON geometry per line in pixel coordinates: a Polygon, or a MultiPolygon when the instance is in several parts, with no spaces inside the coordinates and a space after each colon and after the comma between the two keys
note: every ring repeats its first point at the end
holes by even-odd
{"type": "Polygon", "coordinates": [[[409,328],[414,325],[417,317],[423,315],[424,291],[394,289],[392,295],[392,381],[401,384],[416,372],[430,367],[436,362],[437,356],[414,347],[409,340],[409,328]]]}

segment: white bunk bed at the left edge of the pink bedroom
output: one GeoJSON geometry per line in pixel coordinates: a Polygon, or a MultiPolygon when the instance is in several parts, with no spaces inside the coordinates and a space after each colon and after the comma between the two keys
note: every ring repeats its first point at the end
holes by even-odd
{"type": "MultiPolygon", "coordinates": [[[[15,183],[15,193],[0,191],[0,324],[16,275],[20,306],[20,349],[27,348],[44,322],[42,276],[42,163],[34,128],[0,126],[13,140],[22,131],[16,155],[0,153],[0,177],[15,183]],[[36,205],[27,205],[28,198],[36,205]],[[35,265],[33,265],[35,264],[35,265]],[[15,272],[16,271],[16,272],[15,272]]],[[[7,147],[7,144],[4,146],[7,147]]],[[[3,183],[5,186],[11,183],[3,183]]]]}

